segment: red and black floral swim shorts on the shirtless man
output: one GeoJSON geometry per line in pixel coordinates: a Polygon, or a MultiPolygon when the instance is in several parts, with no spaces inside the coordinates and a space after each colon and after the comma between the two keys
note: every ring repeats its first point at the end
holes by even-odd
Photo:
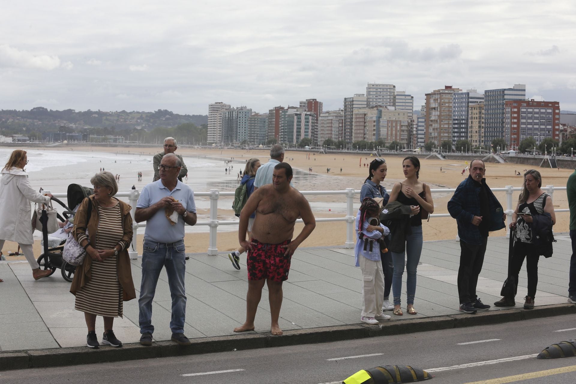
{"type": "Polygon", "coordinates": [[[246,259],[248,280],[268,279],[273,282],[288,280],[292,257],[284,256],[286,248],[281,248],[281,246],[289,244],[290,240],[280,244],[264,244],[256,239],[251,241],[256,245],[252,246],[252,250],[248,250],[246,259]]]}

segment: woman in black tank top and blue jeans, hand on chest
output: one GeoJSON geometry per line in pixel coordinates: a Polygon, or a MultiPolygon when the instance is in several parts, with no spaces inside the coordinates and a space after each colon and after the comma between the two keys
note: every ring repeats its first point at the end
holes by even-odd
{"type": "MultiPolygon", "coordinates": [[[[408,156],[402,162],[402,169],[406,180],[394,184],[390,193],[390,202],[398,201],[411,207],[410,229],[403,235],[401,252],[391,252],[394,264],[392,279],[392,294],[394,297],[394,314],[402,315],[400,309],[400,294],[402,291],[402,275],[404,273],[404,254],[406,254],[406,310],[409,314],[418,313],[414,309],[414,296],[416,295],[416,268],[422,253],[422,210],[429,214],[434,212],[434,202],[430,187],[418,180],[420,161],[415,156],[408,156]],[[404,242],[404,239],[406,241],[404,242]],[[406,251],[406,252],[405,252],[406,251]]],[[[400,250],[400,249],[396,249],[400,250]]]]}

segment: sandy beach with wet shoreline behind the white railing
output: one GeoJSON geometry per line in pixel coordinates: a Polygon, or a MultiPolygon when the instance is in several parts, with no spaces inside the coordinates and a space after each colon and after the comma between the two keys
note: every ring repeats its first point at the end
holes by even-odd
{"type": "MultiPolygon", "coordinates": [[[[49,155],[50,151],[56,151],[59,158],[65,158],[68,155],[70,165],[65,168],[70,172],[60,174],[58,177],[48,177],[51,174],[50,168],[34,171],[33,157],[31,164],[28,166],[30,181],[33,187],[43,187],[51,192],[66,192],[67,185],[70,183],[79,183],[89,186],[89,179],[94,172],[98,172],[100,167],[104,167],[112,173],[120,174],[119,190],[126,192],[134,184],[137,189],[141,189],[152,180],[153,169],[151,158],[157,151],[151,147],[134,148],[129,150],[119,150],[112,147],[58,147],[42,148],[44,155],[49,155]],[[47,154],[46,154],[47,153],[47,154]],[[85,158],[81,164],[73,165],[73,159],[78,158],[82,153],[85,158]],[[92,154],[90,158],[89,154],[92,154]],[[137,172],[143,173],[143,181],[137,181],[137,172]]],[[[7,153],[7,149],[2,149],[1,154],[7,153]]],[[[10,150],[11,151],[11,150],[10,150]]],[[[31,153],[39,151],[38,148],[29,149],[31,153]]],[[[234,191],[239,184],[237,173],[240,169],[244,170],[245,161],[249,158],[259,158],[260,161],[268,161],[268,150],[219,150],[219,149],[183,149],[177,150],[184,158],[188,166],[188,180],[185,183],[191,185],[195,192],[207,192],[210,189],[219,189],[220,191],[234,191]],[[233,170],[231,174],[225,173],[226,165],[224,159],[233,159],[233,170]]],[[[2,156],[0,160],[5,161],[2,156]]],[[[31,155],[28,156],[31,158],[31,155]]],[[[388,176],[384,185],[388,191],[392,185],[404,179],[401,169],[403,157],[390,155],[385,157],[388,165],[388,176]]],[[[354,155],[334,155],[334,154],[317,154],[310,151],[287,151],[285,161],[293,168],[298,169],[294,174],[294,186],[300,191],[331,191],[354,188],[359,190],[368,176],[365,163],[371,161],[369,155],[360,157],[354,155]],[[309,157],[309,158],[308,158],[309,157]],[[308,172],[312,168],[312,173],[308,172]],[[327,172],[327,168],[330,169],[327,172]],[[342,168],[342,171],[340,171],[342,168]]],[[[440,159],[420,159],[420,180],[429,183],[431,188],[456,188],[457,185],[467,177],[463,176],[462,170],[466,166],[464,161],[443,161],[440,159]],[[442,171],[441,171],[442,168],[442,171]]],[[[486,164],[487,184],[491,188],[502,188],[506,185],[521,187],[522,176],[514,176],[515,171],[524,173],[524,169],[530,166],[523,164],[486,164]]],[[[555,185],[565,187],[566,180],[573,172],[569,169],[550,169],[537,168],[543,177],[544,185],[555,185]]],[[[506,209],[505,192],[495,193],[502,206],[506,209]]],[[[434,193],[434,213],[447,213],[446,204],[452,196],[452,193],[434,193]]],[[[514,201],[518,198],[515,192],[514,201]]],[[[321,217],[343,217],[346,215],[346,199],[343,195],[320,195],[307,196],[310,206],[317,218],[321,217]]],[[[218,219],[230,220],[236,219],[232,209],[232,197],[221,198],[218,206],[218,219]]],[[[555,208],[568,208],[566,192],[556,191],[553,196],[555,208]]],[[[516,204],[516,203],[514,203],[516,204]]],[[[207,197],[197,197],[196,205],[198,207],[198,220],[204,221],[209,219],[209,199],[207,197]]],[[[359,206],[359,196],[355,198],[355,209],[359,206]]],[[[296,225],[295,233],[299,233],[302,225],[296,225]]],[[[218,251],[226,251],[237,248],[237,227],[221,226],[218,230],[218,251]]],[[[192,231],[192,229],[189,229],[192,231]]],[[[206,252],[209,245],[208,227],[194,228],[192,233],[187,234],[185,243],[187,252],[206,252]]],[[[556,215],[555,232],[569,230],[569,213],[561,212],[556,215]]],[[[187,231],[188,232],[188,231],[187,231]]],[[[432,218],[429,222],[423,223],[423,233],[425,240],[452,239],[456,237],[456,221],[452,218],[432,218]]],[[[36,235],[39,235],[36,232],[36,235]]],[[[492,232],[491,236],[503,236],[505,230],[492,232]]],[[[143,230],[138,233],[138,252],[142,252],[143,230]]],[[[312,235],[302,244],[302,246],[331,246],[342,245],[346,241],[346,225],[343,222],[324,222],[317,223],[312,235]]],[[[35,242],[35,254],[39,255],[40,242],[35,242]]],[[[16,250],[14,244],[6,242],[3,252],[6,250],[16,250]]],[[[9,260],[14,260],[13,257],[9,260]]]]}

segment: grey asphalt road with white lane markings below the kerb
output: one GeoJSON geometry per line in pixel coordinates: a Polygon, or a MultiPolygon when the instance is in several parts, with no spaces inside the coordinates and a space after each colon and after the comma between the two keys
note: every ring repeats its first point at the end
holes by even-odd
{"type": "Polygon", "coordinates": [[[433,383],[573,384],[576,357],[529,356],[569,339],[576,339],[574,315],[295,347],[0,371],[0,383],[319,384],[341,382],[363,368],[401,364],[430,370],[433,383]],[[531,375],[507,378],[521,374],[531,375]]]}

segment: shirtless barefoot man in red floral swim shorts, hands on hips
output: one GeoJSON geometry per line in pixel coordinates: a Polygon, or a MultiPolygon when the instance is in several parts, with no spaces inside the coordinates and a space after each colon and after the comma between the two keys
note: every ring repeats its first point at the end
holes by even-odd
{"type": "Polygon", "coordinates": [[[290,260],[298,245],[316,227],[316,220],[308,200],[290,187],[292,168],[287,163],[274,166],[272,184],[255,189],[240,213],[238,241],[248,250],[248,294],[246,295],[246,321],[234,332],[254,330],[256,309],[262,296],[264,283],[268,285],[268,300],[272,317],[272,334],[282,334],[278,326],[282,306],[282,282],[288,279],[290,260]],[[248,218],[256,211],[252,225],[252,238],[246,240],[248,218]],[[302,217],[304,228],[293,241],[294,223],[302,217]]]}

